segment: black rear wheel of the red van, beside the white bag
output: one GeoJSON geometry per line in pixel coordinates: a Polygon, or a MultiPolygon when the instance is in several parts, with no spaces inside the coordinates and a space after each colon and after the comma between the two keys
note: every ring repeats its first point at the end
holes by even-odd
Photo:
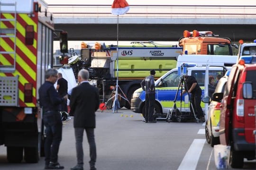
{"type": "Polygon", "coordinates": [[[243,154],[238,151],[234,151],[232,147],[230,149],[230,166],[232,168],[243,168],[244,166],[243,154]]]}

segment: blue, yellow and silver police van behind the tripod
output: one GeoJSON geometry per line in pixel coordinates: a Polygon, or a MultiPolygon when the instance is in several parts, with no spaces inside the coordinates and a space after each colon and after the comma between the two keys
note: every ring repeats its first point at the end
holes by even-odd
{"type": "MultiPolygon", "coordinates": [[[[229,69],[223,65],[217,66],[196,66],[186,65],[187,69],[185,74],[194,76],[202,89],[202,96],[204,97],[205,92],[205,81],[208,78],[205,77],[206,69],[208,70],[207,75],[217,77],[217,75],[224,76],[225,72],[229,69]]],[[[183,73],[184,74],[184,73],[183,73]]],[[[167,114],[170,109],[174,106],[174,101],[177,108],[181,108],[181,112],[190,112],[189,108],[189,96],[180,96],[182,88],[180,88],[181,75],[179,67],[170,70],[155,81],[155,113],[167,114]]],[[[208,77],[209,77],[208,76],[208,77]]],[[[216,79],[215,79],[216,80],[216,79]]],[[[208,94],[208,93],[207,93],[208,94]]],[[[142,113],[145,116],[145,91],[142,88],[137,89],[131,99],[131,110],[136,113],[142,113]]],[[[203,110],[205,103],[201,102],[203,110]]],[[[208,106],[206,106],[208,107],[208,106]]]]}

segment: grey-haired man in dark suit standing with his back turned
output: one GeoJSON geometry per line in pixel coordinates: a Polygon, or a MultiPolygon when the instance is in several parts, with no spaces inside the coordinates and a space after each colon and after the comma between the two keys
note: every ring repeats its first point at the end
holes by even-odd
{"type": "Polygon", "coordinates": [[[90,145],[90,170],[96,170],[96,144],[94,140],[95,111],[99,108],[99,91],[88,82],[89,72],[81,69],[78,73],[79,86],[74,87],[70,98],[70,108],[74,115],[77,165],[71,170],[83,170],[82,138],[85,129],[90,145]]]}

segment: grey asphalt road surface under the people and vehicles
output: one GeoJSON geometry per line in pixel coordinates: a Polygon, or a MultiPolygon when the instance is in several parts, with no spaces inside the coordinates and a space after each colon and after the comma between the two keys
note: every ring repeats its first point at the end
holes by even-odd
{"type": "MultiPolygon", "coordinates": [[[[204,124],[142,120],[140,114],[127,109],[96,112],[98,170],[216,170],[213,148],[205,140],[204,124]]],[[[84,137],[84,170],[89,170],[88,148],[84,137]]],[[[76,164],[72,119],[63,125],[59,162],[65,170],[76,164]]],[[[0,170],[43,169],[43,157],[34,164],[8,163],[6,147],[0,146],[0,170]]],[[[256,161],[246,161],[244,169],[255,170],[256,161]]]]}

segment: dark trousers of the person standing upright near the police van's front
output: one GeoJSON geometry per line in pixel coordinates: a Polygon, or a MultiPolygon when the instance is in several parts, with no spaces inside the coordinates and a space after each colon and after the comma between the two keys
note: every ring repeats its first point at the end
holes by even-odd
{"type": "Polygon", "coordinates": [[[147,93],[146,94],[146,114],[145,120],[147,121],[154,121],[153,114],[155,110],[155,93],[147,93]]]}

